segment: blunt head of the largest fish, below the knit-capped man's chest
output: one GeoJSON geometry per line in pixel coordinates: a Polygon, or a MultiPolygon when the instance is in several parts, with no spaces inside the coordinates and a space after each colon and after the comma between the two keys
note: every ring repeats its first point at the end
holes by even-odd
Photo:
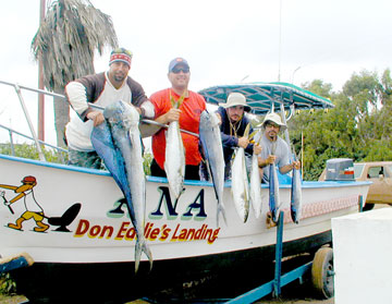
{"type": "Polygon", "coordinates": [[[105,118],[112,127],[130,130],[139,123],[139,114],[134,106],[117,101],[105,108],[105,118]]]}

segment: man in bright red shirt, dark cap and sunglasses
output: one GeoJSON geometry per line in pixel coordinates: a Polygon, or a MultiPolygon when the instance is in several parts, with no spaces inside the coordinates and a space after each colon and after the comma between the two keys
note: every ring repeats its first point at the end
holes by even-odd
{"type": "MultiPolygon", "coordinates": [[[[200,114],[206,110],[206,101],[201,95],[188,89],[191,71],[187,61],[183,58],[173,59],[169,64],[168,78],[171,87],[157,92],[149,98],[155,106],[155,120],[163,124],[179,121],[180,129],[198,134],[200,114]],[[183,100],[182,97],[184,97],[183,100]],[[171,99],[179,102],[179,108],[172,106],[171,99]]],[[[151,175],[155,177],[166,177],[164,130],[161,127],[152,135],[154,159],[150,169],[151,175]]],[[[201,156],[198,137],[183,132],[181,136],[185,148],[185,179],[199,180],[201,156]]]]}

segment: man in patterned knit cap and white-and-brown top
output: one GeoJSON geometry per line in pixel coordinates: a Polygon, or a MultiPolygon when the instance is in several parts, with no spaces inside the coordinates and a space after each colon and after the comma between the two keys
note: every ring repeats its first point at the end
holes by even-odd
{"type": "Polygon", "coordinates": [[[72,108],[71,120],[65,129],[70,165],[100,169],[101,159],[93,148],[93,127],[105,121],[102,111],[89,107],[93,102],[100,107],[122,100],[136,107],[142,118],[154,119],[152,104],[143,87],[128,76],[132,52],[119,48],[111,52],[109,71],[84,76],[65,87],[66,98],[72,108]]]}

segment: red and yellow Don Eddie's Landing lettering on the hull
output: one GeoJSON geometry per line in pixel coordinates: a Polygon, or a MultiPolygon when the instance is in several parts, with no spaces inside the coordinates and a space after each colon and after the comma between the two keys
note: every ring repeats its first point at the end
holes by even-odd
{"type": "MultiPolygon", "coordinates": [[[[208,244],[212,244],[219,234],[220,228],[208,228],[203,224],[200,228],[184,228],[177,223],[175,228],[162,224],[156,226],[154,222],[147,222],[145,227],[145,238],[148,241],[198,241],[206,240],[208,244]]],[[[131,221],[123,221],[119,228],[113,226],[93,224],[89,220],[81,219],[75,230],[74,238],[106,239],[117,241],[135,241],[136,230],[131,221]]]]}

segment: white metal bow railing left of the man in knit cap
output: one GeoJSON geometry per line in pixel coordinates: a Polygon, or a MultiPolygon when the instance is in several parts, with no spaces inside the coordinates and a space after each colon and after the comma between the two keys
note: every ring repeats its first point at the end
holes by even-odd
{"type": "Polygon", "coordinates": [[[28,127],[29,127],[29,131],[32,133],[32,136],[28,136],[28,135],[25,135],[23,133],[20,133],[15,130],[12,130],[11,127],[8,127],[8,126],[4,126],[2,124],[0,124],[0,127],[1,129],[5,129],[8,130],[9,134],[10,134],[10,145],[11,145],[11,153],[13,156],[15,156],[15,147],[14,147],[14,142],[13,142],[13,134],[17,134],[20,136],[23,136],[25,138],[28,138],[28,139],[33,139],[35,142],[35,145],[37,147],[37,151],[38,151],[38,156],[39,156],[39,159],[41,161],[46,161],[46,157],[45,157],[45,154],[41,149],[41,145],[44,146],[48,146],[50,148],[53,148],[56,149],[57,151],[59,151],[59,158],[60,160],[65,163],[65,159],[62,155],[62,151],[63,153],[68,153],[66,149],[64,148],[61,148],[61,147],[58,147],[58,146],[53,146],[53,145],[50,145],[46,142],[42,142],[40,139],[38,139],[37,137],[37,134],[35,132],[35,129],[33,126],[33,123],[32,123],[32,119],[30,119],[30,115],[28,113],[28,110],[27,110],[27,107],[26,107],[26,104],[24,101],[24,98],[23,98],[23,95],[22,95],[22,89],[26,89],[26,90],[30,90],[30,92],[35,92],[35,93],[38,93],[38,94],[44,94],[44,95],[48,95],[48,96],[51,96],[51,97],[58,97],[58,98],[62,98],[62,99],[65,99],[65,97],[63,95],[60,95],[60,94],[56,94],[56,93],[50,93],[50,92],[46,92],[44,89],[36,89],[36,88],[30,88],[30,87],[27,87],[27,86],[23,86],[23,85],[19,85],[16,83],[9,83],[9,82],[4,82],[4,81],[1,81],[0,80],[0,84],[4,84],[4,85],[9,85],[9,86],[12,86],[14,89],[15,89],[15,93],[19,97],[19,100],[21,102],[21,106],[22,106],[22,109],[23,109],[23,112],[25,114],[25,118],[26,118],[26,121],[27,121],[27,124],[28,124],[28,127]]]}

